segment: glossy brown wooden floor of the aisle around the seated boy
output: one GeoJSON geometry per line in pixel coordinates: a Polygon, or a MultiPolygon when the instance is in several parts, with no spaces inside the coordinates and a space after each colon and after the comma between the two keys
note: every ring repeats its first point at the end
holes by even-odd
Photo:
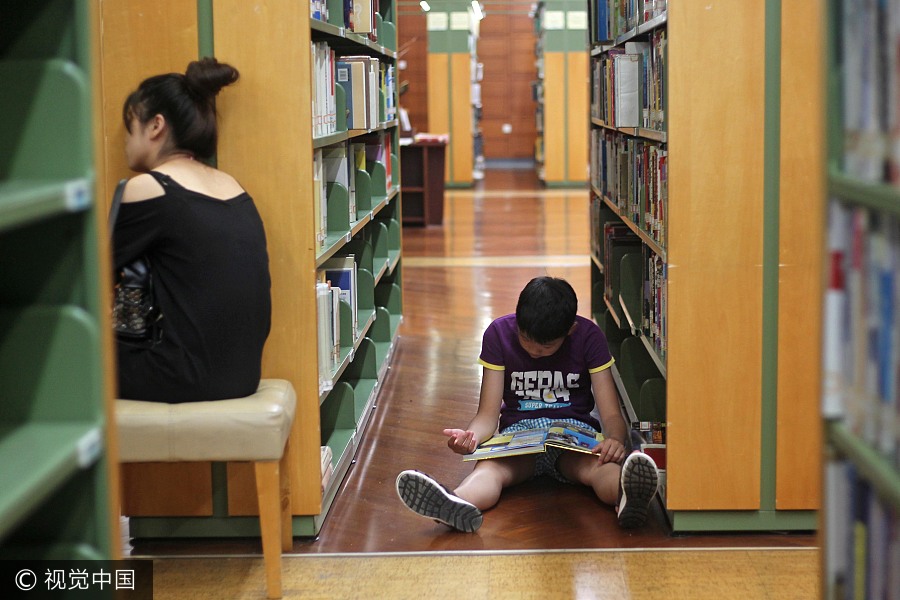
{"type": "MultiPolygon", "coordinates": [[[[579,293],[579,313],[590,316],[587,192],[542,189],[530,170],[486,174],[474,190],[447,191],[442,227],[404,227],[404,317],[389,375],[320,535],[296,539],[293,554],[692,549],[709,556],[710,549],[739,548],[765,556],[777,550],[798,557],[795,570],[808,571],[812,583],[799,596],[741,597],[815,597],[818,553],[812,533],[672,535],[658,508],[645,527],[624,531],[613,510],[589,490],[549,480],[505,492],[475,534],[452,532],[400,503],[394,481],[403,469],[425,471],[452,487],[472,468],[447,449],[441,430],[465,427],[474,414],[481,333],[494,317],[514,312],[529,279],[565,277],[579,293]]],[[[694,468],[703,468],[702,459],[694,468]]],[[[134,545],[134,554],[157,557],[259,552],[258,540],[134,545]]],[[[547,554],[548,560],[552,556],[558,554],[547,554]]],[[[746,567],[741,563],[729,567],[726,560],[714,568],[737,573],[746,567]]],[[[697,575],[709,576],[713,564],[718,563],[699,560],[697,575]]]]}

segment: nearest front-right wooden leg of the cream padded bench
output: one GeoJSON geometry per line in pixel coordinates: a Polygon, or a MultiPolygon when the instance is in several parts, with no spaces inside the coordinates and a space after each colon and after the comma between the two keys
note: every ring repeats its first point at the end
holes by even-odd
{"type": "Polygon", "coordinates": [[[279,463],[254,463],[256,495],[259,502],[259,529],[262,533],[263,562],[266,567],[266,595],[281,598],[281,483],[279,463]]]}

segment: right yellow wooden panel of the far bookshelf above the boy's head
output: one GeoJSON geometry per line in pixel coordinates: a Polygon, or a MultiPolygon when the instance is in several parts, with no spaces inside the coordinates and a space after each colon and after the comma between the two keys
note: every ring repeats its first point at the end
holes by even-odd
{"type": "Polygon", "coordinates": [[[587,52],[567,53],[566,70],[566,146],[569,152],[566,180],[587,181],[588,128],[584,125],[590,118],[587,52]]]}

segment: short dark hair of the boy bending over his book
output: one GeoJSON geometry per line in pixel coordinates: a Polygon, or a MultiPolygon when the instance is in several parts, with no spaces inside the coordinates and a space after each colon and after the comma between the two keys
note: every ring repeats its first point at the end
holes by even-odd
{"type": "Polygon", "coordinates": [[[578,312],[578,296],[565,279],[535,277],[519,293],[516,324],[519,332],[538,344],[569,334],[578,312]]]}

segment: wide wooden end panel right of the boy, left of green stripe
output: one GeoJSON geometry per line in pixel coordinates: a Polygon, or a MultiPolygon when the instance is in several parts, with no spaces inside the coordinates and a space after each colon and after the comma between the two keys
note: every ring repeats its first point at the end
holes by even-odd
{"type": "Polygon", "coordinates": [[[667,504],[758,509],[765,3],[668,23],[667,504]]]}

